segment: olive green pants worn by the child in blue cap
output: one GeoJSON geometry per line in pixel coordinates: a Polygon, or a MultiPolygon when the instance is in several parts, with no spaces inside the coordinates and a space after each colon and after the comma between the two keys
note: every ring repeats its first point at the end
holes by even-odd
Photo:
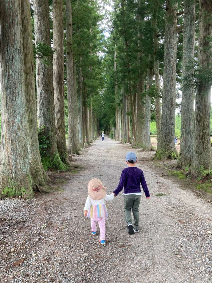
{"type": "Polygon", "coordinates": [[[139,230],[139,204],[140,204],[140,195],[135,194],[126,194],[124,195],[124,215],[125,220],[128,224],[132,224],[131,209],[134,217],[133,228],[139,230]]]}

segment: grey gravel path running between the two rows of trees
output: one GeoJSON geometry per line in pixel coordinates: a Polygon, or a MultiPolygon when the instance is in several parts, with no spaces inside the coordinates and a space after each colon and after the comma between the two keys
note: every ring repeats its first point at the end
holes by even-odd
{"type": "Polygon", "coordinates": [[[50,173],[63,190],[0,200],[0,282],[212,281],[212,206],[162,177],[147,161],[154,153],[133,149],[151,194],[141,196],[140,232],[128,235],[120,193],[107,203],[107,244],[91,235],[83,216],[87,183],[97,177],[108,193],[114,190],[128,151],[129,144],[99,138],[75,156],[81,169],[50,173]]]}

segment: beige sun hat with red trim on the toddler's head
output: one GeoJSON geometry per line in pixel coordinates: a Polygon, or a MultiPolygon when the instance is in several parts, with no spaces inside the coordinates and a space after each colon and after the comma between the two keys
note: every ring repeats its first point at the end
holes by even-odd
{"type": "Polygon", "coordinates": [[[88,194],[95,201],[99,201],[106,196],[106,188],[99,179],[94,178],[88,182],[88,194]]]}

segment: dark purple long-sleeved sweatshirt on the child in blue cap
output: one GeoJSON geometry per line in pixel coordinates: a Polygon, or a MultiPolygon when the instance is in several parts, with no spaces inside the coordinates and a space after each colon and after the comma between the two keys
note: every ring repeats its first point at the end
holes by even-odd
{"type": "Polygon", "coordinates": [[[138,167],[127,167],[121,173],[119,185],[113,193],[117,196],[124,187],[124,193],[141,193],[140,184],[146,197],[150,197],[143,171],[138,167]]]}

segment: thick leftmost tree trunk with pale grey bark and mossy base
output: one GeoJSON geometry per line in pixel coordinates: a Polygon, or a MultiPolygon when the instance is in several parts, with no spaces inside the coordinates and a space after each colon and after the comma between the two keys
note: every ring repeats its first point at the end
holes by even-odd
{"type": "Polygon", "coordinates": [[[0,197],[33,197],[22,37],[21,0],[0,1],[1,159],[0,197]]]}

